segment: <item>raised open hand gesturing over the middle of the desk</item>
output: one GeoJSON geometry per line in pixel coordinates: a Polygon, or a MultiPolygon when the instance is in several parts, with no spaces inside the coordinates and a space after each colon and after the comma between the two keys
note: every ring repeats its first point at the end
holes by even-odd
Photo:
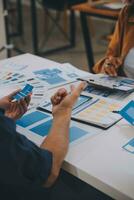
{"type": "Polygon", "coordinates": [[[54,96],[51,98],[51,102],[53,105],[52,113],[53,116],[70,114],[72,108],[77,101],[80,93],[87,86],[86,82],[81,82],[77,87],[71,86],[71,93],[68,93],[66,89],[59,89],[54,96]]]}

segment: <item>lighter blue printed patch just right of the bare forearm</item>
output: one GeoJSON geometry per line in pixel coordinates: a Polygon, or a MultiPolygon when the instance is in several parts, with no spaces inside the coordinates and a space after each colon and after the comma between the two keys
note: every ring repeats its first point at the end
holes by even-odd
{"type": "Polygon", "coordinates": [[[88,132],[84,131],[83,129],[72,126],[70,128],[70,142],[78,140],[79,138],[81,138],[87,134],[88,134],[88,132]]]}

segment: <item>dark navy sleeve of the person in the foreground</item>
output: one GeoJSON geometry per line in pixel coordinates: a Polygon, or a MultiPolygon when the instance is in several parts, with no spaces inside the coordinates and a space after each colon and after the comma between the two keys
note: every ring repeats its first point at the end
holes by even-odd
{"type": "Polygon", "coordinates": [[[13,120],[0,111],[0,181],[43,184],[50,175],[52,153],[16,132],[13,120]]]}

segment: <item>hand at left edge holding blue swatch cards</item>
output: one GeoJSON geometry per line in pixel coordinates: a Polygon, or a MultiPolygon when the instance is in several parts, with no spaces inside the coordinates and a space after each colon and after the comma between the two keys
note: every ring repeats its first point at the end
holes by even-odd
{"type": "Polygon", "coordinates": [[[21,99],[17,102],[10,102],[10,105],[5,110],[5,116],[17,120],[27,112],[28,105],[31,100],[31,95],[28,95],[25,99],[21,99]]]}

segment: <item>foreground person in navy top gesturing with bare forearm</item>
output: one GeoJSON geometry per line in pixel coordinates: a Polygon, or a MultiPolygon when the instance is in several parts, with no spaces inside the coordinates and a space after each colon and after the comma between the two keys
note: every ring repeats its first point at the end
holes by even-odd
{"type": "MultiPolygon", "coordinates": [[[[62,88],[51,98],[53,125],[40,148],[16,131],[15,121],[27,111],[30,96],[19,102],[11,101],[15,93],[0,99],[1,199],[8,199],[5,196],[14,191],[16,197],[10,199],[40,200],[34,196],[36,189],[44,186],[45,191],[56,181],[69,145],[72,107],[84,88],[84,82],[72,86],[71,94],[62,88]]],[[[41,199],[49,199],[48,191],[41,199]]]]}

